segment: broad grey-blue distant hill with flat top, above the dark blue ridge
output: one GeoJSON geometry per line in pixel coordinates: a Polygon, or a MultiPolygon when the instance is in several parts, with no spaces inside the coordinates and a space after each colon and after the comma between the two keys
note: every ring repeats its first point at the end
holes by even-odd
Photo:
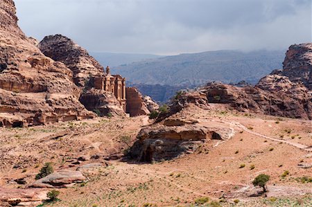
{"type": "Polygon", "coordinates": [[[113,67],[133,84],[200,85],[208,81],[225,83],[259,78],[280,69],[283,51],[211,51],[160,57],[113,67]]]}

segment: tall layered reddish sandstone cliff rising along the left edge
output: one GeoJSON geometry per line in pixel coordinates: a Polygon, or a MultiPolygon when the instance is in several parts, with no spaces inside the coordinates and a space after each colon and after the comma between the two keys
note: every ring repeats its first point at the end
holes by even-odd
{"type": "Polygon", "coordinates": [[[92,118],[64,64],[44,56],[17,26],[12,0],[0,4],[0,126],[92,118]]]}

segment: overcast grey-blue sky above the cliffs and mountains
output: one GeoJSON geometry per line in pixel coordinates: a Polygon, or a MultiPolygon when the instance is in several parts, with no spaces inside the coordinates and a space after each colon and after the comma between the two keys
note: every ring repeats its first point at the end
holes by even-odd
{"type": "Polygon", "coordinates": [[[15,0],[28,36],[88,51],[169,55],[311,42],[311,0],[15,0]]]}

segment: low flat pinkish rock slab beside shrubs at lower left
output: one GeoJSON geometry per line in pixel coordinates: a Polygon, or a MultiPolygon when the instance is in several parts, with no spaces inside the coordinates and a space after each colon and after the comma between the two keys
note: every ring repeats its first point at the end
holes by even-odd
{"type": "Polygon", "coordinates": [[[85,181],[80,171],[59,171],[49,174],[31,184],[33,188],[68,188],[76,183],[85,181]]]}

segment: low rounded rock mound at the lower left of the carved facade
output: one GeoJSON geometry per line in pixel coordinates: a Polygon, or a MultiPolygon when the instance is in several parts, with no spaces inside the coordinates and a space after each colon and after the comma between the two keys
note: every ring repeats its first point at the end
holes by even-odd
{"type": "Polygon", "coordinates": [[[125,116],[125,111],[113,93],[99,89],[89,89],[80,97],[80,102],[98,116],[125,116]]]}

